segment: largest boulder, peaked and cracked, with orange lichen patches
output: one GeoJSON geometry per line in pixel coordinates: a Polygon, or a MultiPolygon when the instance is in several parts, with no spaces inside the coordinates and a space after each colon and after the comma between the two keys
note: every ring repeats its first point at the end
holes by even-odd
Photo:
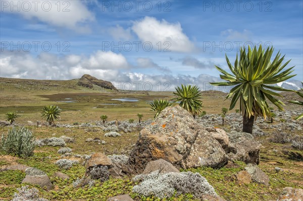
{"type": "Polygon", "coordinates": [[[228,161],[220,143],[179,105],[165,108],[140,131],[128,164],[142,172],[149,161],[158,159],[177,168],[219,168],[228,161]]]}

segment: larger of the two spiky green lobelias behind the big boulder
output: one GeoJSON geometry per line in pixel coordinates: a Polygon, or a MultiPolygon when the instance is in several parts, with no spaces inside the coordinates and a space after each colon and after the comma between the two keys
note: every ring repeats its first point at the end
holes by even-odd
{"type": "Polygon", "coordinates": [[[190,112],[194,118],[201,112],[202,101],[200,99],[202,96],[197,86],[181,85],[181,88],[176,87],[174,95],[177,97],[172,100],[175,102],[180,101],[179,105],[190,112]]]}

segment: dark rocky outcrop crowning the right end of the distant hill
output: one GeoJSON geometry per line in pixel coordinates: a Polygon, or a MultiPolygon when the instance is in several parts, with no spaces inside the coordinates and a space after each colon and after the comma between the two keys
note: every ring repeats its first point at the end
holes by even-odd
{"type": "Polygon", "coordinates": [[[105,88],[105,89],[111,89],[111,90],[118,91],[111,82],[99,80],[99,79],[92,77],[90,75],[87,75],[87,74],[83,75],[79,79],[77,85],[82,86],[82,87],[87,87],[90,89],[93,88],[93,85],[97,85],[97,86],[105,88]]]}

